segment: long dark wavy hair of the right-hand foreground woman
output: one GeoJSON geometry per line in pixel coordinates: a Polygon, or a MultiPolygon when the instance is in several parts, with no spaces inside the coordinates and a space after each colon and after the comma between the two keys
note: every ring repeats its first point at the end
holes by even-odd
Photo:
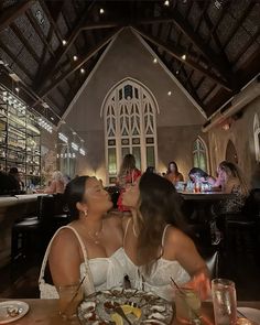
{"type": "Polygon", "coordinates": [[[181,196],[166,178],[144,173],[139,183],[138,262],[150,273],[154,262],[163,254],[162,236],[167,224],[188,234],[181,212],[181,196]],[[161,253],[160,253],[161,252],[161,253]]]}

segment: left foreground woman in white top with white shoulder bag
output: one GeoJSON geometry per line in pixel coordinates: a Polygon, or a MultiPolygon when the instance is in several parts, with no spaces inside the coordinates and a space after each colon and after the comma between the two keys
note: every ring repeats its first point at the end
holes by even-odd
{"type": "Polygon", "coordinates": [[[41,297],[57,297],[56,289],[43,278],[47,259],[56,288],[76,284],[84,277],[86,295],[122,285],[121,218],[107,215],[112,207],[109,194],[96,177],[79,176],[67,184],[64,195],[73,221],[56,231],[45,252],[39,279],[41,297]]]}

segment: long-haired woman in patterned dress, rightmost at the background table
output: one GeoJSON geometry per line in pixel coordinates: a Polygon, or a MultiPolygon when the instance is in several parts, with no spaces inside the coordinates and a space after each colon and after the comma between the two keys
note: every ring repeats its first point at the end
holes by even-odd
{"type": "Polygon", "coordinates": [[[217,205],[217,214],[240,213],[249,194],[248,186],[237,165],[223,161],[219,166],[219,178],[221,180],[221,191],[234,194],[230,198],[220,201],[217,205]]]}

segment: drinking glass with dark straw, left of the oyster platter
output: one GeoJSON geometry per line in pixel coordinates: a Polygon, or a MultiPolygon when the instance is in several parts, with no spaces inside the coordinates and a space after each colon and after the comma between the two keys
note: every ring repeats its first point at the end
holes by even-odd
{"type": "Polygon", "coordinates": [[[77,307],[83,301],[83,286],[79,283],[58,286],[58,311],[63,318],[72,319],[77,316],[77,307]]]}

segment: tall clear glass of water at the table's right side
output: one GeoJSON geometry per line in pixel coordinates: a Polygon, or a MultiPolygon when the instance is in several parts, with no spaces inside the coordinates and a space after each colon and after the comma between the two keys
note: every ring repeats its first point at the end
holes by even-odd
{"type": "Polygon", "coordinates": [[[237,323],[237,296],[235,283],[227,279],[212,281],[213,306],[216,325],[237,323]]]}

